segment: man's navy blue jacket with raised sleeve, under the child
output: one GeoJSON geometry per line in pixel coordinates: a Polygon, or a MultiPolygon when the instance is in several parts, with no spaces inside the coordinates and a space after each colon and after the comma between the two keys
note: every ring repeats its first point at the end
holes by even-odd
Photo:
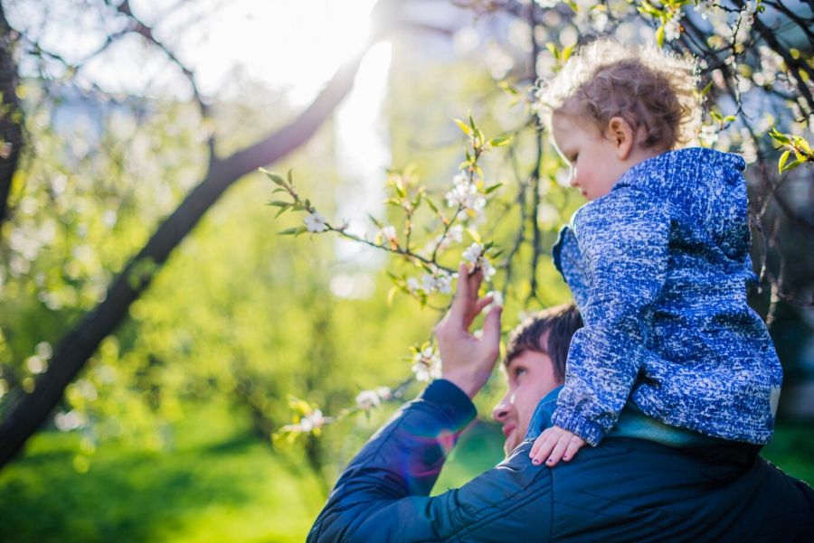
{"type": "Polygon", "coordinates": [[[608,437],[553,469],[528,458],[529,439],[459,489],[429,497],[475,407],[434,381],[347,466],[308,534],[317,541],[810,542],[814,491],[758,458],[608,437]]]}

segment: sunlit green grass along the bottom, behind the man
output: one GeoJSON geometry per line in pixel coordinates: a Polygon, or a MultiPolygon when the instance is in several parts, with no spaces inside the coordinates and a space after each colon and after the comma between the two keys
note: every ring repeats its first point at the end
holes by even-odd
{"type": "MultiPolygon", "coordinates": [[[[175,429],[175,448],[105,444],[82,471],[80,435],[43,432],[0,472],[0,540],[8,542],[287,542],[304,540],[325,502],[321,482],[275,454],[223,406],[201,407],[175,429]],[[77,468],[80,471],[77,471],[77,468]]],[[[763,456],[814,482],[812,426],[779,426],[763,456]]],[[[502,458],[497,426],[461,438],[433,494],[502,458]]]]}

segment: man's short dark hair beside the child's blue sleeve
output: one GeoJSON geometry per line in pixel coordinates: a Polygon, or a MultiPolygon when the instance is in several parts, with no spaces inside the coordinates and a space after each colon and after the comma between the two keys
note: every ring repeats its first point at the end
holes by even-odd
{"type": "Polygon", "coordinates": [[[509,337],[506,360],[509,364],[525,351],[547,354],[554,363],[554,377],[565,379],[565,360],[574,332],[582,328],[582,315],[574,304],[549,307],[520,323],[509,337]],[[548,332],[545,344],[543,336],[548,332]]]}

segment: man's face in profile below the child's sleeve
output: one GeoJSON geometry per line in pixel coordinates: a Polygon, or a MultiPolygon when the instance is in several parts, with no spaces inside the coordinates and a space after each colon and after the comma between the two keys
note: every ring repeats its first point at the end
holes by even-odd
{"type": "MultiPolygon", "coordinates": [[[[541,343],[545,344],[546,337],[541,343]]],[[[508,389],[492,410],[492,417],[503,425],[506,455],[523,442],[535,408],[546,394],[562,383],[554,377],[554,363],[547,354],[524,351],[506,365],[508,389]]]]}

